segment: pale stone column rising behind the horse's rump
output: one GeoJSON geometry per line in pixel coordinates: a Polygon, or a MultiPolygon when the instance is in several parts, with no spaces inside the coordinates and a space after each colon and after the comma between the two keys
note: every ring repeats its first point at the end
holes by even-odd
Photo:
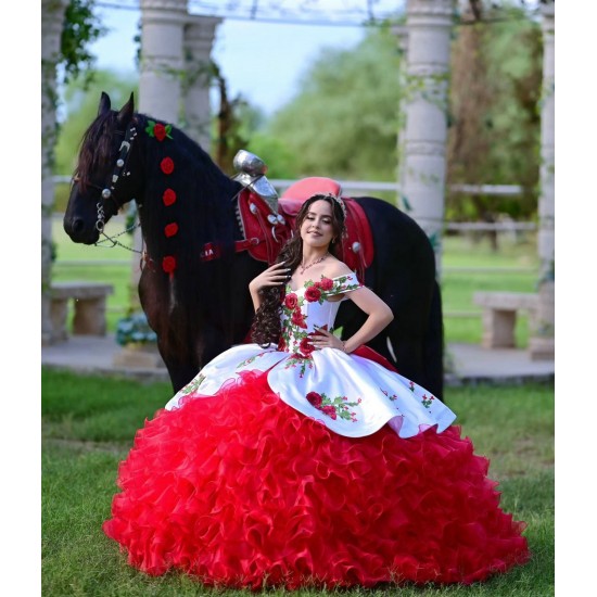
{"type": "Polygon", "coordinates": [[[441,277],[447,102],[454,0],[408,0],[404,138],[398,186],[427,232],[441,277]]]}

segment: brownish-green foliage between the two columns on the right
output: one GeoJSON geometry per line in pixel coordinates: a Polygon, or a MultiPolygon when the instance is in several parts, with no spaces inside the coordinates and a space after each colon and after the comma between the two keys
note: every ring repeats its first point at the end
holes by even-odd
{"type": "Polygon", "coordinates": [[[447,177],[450,183],[519,185],[524,191],[515,198],[448,193],[446,217],[507,213],[529,219],[537,206],[541,27],[508,3],[484,16],[486,21],[455,29],[447,177]]]}

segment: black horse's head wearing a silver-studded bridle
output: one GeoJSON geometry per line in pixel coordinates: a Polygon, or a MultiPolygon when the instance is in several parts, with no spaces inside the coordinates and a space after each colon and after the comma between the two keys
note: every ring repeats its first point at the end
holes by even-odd
{"type": "Polygon", "coordinates": [[[127,202],[140,196],[139,177],[130,176],[140,160],[132,93],[119,112],[102,92],[97,118],[82,137],[73,176],[64,230],[74,242],[93,244],[105,223],[127,202]]]}

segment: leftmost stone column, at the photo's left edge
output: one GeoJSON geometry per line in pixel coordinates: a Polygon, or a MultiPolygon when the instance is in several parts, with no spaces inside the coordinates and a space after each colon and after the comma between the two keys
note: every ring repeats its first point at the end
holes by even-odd
{"type": "Polygon", "coordinates": [[[56,64],[68,0],[41,0],[41,344],[56,341],[51,318],[52,162],[56,142],[56,64]]]}

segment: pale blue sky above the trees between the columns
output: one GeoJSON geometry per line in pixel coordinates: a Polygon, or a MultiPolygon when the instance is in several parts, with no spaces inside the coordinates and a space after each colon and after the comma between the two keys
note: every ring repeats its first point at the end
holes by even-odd
{"type": "MultiPolygon", "coordinates": [[[[97,66],[136,71],[134,36],[140,12],[99,7],[110,29],[91,46],[97,66]]],[[[296,92],[301,75],[323,48],[350,49],[364,38],[361,26],[303,25],[226,18],[216,28],[212,58],[220,66],[230,97],[238,93],[270,114],[296,92]]]]}

